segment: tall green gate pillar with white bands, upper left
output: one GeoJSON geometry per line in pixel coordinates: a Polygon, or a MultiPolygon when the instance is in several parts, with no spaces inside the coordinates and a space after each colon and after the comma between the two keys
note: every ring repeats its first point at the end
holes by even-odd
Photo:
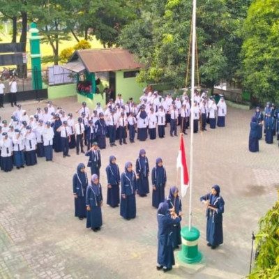
{"type": "Polygon", "coordinates": [[[38,36],[37,24],[32,22],[30,24],[29,32],[31,33],[30,40],[30,57],[32,69],[32,88],[33,90],[42,89],[42,68],[40,63],[40,39],[38,36]]]}

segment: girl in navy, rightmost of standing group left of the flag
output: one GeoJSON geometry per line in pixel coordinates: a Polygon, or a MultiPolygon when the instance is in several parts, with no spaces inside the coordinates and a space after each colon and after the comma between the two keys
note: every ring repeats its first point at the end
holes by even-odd
{"type": "Polygon", "coordinates": [[[165,184],[167,182],[167,174],[163,166],[161,158],[156,159],[156,165],[152,169],[152,206],[156,209],[160,202],[165,200],[165,184]]]}

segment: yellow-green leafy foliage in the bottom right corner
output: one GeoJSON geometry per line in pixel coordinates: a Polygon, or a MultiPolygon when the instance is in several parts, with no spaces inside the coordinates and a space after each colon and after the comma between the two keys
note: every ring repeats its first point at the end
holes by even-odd
{"type": "MultiPolygon", "coordinates": [[[[278,192],[279,193],[279,192],[278,192]]],[[[259,220],[256,245],[259,255],[249,279],[279,278],[279,202],[259,220]]]]}

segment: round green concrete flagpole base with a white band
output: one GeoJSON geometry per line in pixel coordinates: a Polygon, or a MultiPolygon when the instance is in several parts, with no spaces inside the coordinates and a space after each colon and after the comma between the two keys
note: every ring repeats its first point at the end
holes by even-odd
{"type": "Polygon", "coordinates": [[[183,227],[181,229],[182,250],[178,257],[181,262],[195,264],[202,259],[202,253],[198,250],[199,230],[196,227],[183,227]]]}

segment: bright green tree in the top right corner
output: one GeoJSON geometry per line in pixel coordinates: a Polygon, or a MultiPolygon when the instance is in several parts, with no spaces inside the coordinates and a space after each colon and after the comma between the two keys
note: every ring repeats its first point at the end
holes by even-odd
{"type": "Polygon", "coordinates": [[[279,101],[279,0],[255,0],[243,27],[243,85],[262,101],[279,101]]]}

